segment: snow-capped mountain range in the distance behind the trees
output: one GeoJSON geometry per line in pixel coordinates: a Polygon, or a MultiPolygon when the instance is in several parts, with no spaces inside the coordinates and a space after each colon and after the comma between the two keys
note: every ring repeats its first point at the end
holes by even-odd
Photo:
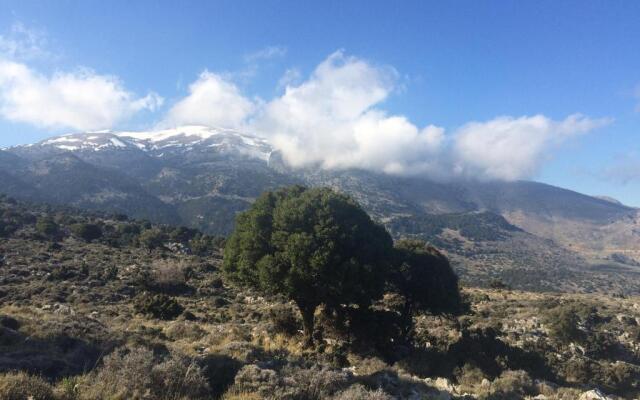
{"type": "Polygon", "coordinates": [[[211,234],[229,233],[235,213],[264,190],[296,183],[344,191],[396,237],[445,247],[476,284],[492,276],[526,289],[638,288],[640,212],[541,183],[292,170],[263,139],[199,126],[73,134],[0,151],[6,194],[211,234]]]}

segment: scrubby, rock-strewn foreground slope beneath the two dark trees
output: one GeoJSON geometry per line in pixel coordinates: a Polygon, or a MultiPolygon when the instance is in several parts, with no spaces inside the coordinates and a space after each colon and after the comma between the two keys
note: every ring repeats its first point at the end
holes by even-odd
{"type": "Polygon", "coordinates": [[[0,398],[640,395],[638,297],[466,287],[468,313],[419,315],[408,346],[387,296],[348,329],[319,312],[320,344],[305,348],[296,308],[225,281],[219,245],[186,228],[1,198],[0,398]]]}

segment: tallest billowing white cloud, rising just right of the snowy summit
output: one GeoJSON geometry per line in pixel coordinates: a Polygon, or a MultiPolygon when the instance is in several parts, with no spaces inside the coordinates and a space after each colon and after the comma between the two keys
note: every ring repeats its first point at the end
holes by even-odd
{"type": "Polygon", "coordinates": [[[311,77],[264,107],[254,129],[271,138],[295,167],[360,167],[404,172],[440,143],[430,127],[418,129],[403,116],[374,106],[394,88],[396,73],[336,52],[311,77]]]}

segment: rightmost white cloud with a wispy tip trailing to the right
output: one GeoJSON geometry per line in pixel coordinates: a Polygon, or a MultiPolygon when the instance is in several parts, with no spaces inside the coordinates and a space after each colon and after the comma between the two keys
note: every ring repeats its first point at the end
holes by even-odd
{"type": "Polygon", "coordinates": [[[580,114],[562,121],[535,115],[471,122],[455,134],[453,173],[482,179],[531,177],[539,170],[548,150],[571,136],[608,122],[608,119],[593,120],[580,114]]]}

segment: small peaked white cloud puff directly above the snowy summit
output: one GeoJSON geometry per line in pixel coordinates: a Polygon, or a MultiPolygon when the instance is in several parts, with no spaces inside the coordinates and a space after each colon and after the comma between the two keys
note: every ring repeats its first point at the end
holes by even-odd
{"type": "Polygon", "coordinates": [[[168,112],[161,125],[207,125],[238,128],[255,110],[230,80],[208,71],[189,86],[189,94],[168,112]]]}

